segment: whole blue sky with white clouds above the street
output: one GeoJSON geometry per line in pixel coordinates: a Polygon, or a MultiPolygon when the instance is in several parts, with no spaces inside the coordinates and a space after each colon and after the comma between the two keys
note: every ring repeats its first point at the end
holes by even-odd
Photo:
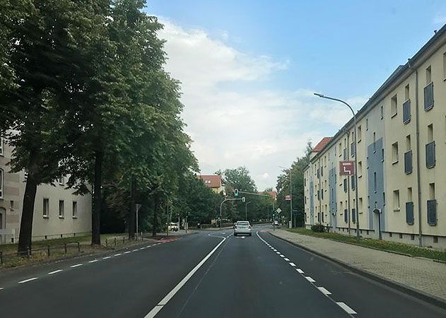
{"type": "Polygon", "coordinates": [[[182,84],[182,119],[202,174],[245,166],[275,187],[333,136],[446,23],[444,0],[152,0],[165,69],[182,84]]]}

